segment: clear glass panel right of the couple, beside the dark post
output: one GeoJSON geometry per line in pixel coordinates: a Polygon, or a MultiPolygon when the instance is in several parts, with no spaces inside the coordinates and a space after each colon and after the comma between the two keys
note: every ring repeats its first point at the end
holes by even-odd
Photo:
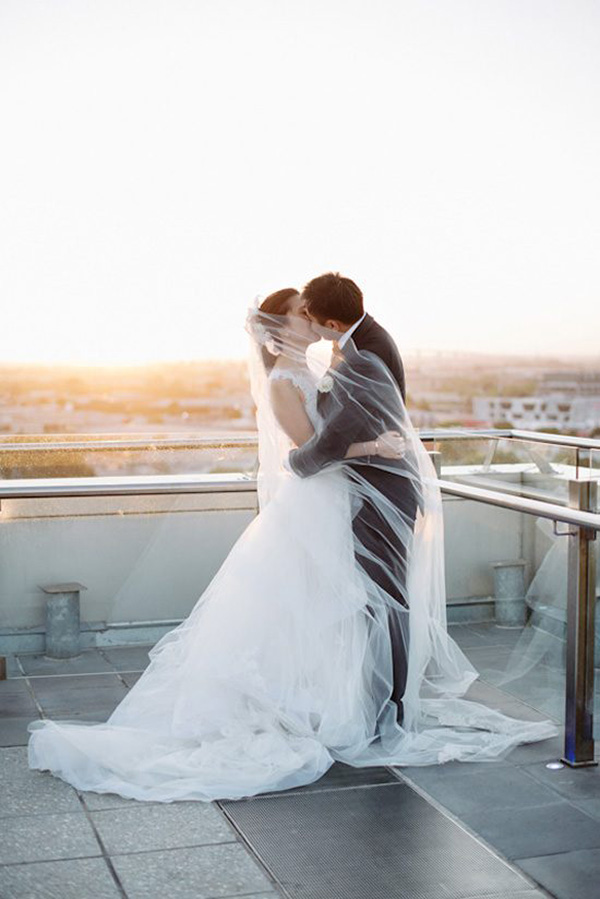
{"type": "Polygon", "coordinates": [[[450,497],[444,518],[449,629],[480,674],[468,697],[564,725],[566,538],[545,519],[450,497]]]}

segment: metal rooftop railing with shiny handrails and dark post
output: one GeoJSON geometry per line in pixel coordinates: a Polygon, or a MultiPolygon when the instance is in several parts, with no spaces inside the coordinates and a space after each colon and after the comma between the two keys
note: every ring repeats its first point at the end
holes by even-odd
{"type": "MultiPolygon", "coordinates": [[[[473,439],[474,437],[510,437],[561,446],[573,446],[578,451],[600,451],[599,440],[561,437],[540,432],[498,429],[477,431],[420,431],[420,438],[439,441],[473,439]]],[[[59,441],[52,443],[0,443],[0,452],[9,447],[28,451],[64,451],[66,449],[149,449],[155,448],[252,448],[255,438],[161,438],[141,440],[59,441]]],[[[555,532],[569,540],[567,594],[567,662],[565,690],[565,747],[564,761],[571,766],[594,764],[593,702],[594,702],[594,635],[596,608],[595,552],[590,544],[600,531],[597,508],[597,483],[590,480],[569,481],[568,505],[547,502],[527,496],[475,487],[464,483],[439,480],[442,493],[465,500],[499,506],[515,512],[535,515],[554,522],[555,532]],[[559,532],[557,524],[568,525],[559,532]]],[[[0,509],[2,499],[32,497],[124,496],[168,493],[212,493],[223,491],[253,491],[255,478],[250,474],[225,475],[137,475],[91,478],[14,479],[0,481],[0,509]]]]}

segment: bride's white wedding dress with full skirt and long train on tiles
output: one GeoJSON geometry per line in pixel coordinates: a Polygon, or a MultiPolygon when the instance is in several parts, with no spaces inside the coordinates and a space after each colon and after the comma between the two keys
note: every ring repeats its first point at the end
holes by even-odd
{"type": "MultiPolygon", "coordinates": [[[[291,376],[317,426],[315,379],[291,376]]],[[[449,692],[423,698],[422,673],[409,673],[405,727],[396,724],[373,696],[386,644],[365,614],[342,469],[304,479],[281,471],[270,488],[188,618],[150,650],[106,722],[29,723],[31,768],[79,790],[209,801],[306,784],[335,760],[489,760],[557,732],[458,698],[477,672],[448,637],[445,611],[431,641],[449,692]]]]}

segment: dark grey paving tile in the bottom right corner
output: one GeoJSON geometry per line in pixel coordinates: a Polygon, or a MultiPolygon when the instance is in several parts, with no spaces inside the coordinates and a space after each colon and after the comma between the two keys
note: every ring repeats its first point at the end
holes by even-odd
{"type": "Polygon", "coordinates": [[[518,865],[557,899],[592,899],[600,883],[600,849],[521,858],[518,865]]]}

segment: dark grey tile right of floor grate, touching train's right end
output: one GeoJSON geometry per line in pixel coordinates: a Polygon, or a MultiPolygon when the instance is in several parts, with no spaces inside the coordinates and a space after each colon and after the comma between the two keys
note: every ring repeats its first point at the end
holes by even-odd
{"type": "Polygon", "coordinates": [[[487,771],[440,777],[431,795],[459,818],[486,809],[524,809],[556,803],[553,790],[510,765],[494,769],[490,764],[487,771]]]}

